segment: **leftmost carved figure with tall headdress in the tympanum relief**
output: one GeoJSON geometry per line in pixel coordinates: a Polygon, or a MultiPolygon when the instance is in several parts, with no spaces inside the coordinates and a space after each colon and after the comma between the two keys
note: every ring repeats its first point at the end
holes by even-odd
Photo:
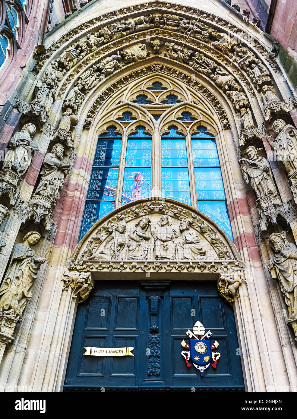
{"type": "Polygon", "coordinates": [[[126,221],[121,220],[118,225],[115,225],[111,235],[106,239],[104,246],[104,254],[102,259],[126,259],[126,221]]]}

